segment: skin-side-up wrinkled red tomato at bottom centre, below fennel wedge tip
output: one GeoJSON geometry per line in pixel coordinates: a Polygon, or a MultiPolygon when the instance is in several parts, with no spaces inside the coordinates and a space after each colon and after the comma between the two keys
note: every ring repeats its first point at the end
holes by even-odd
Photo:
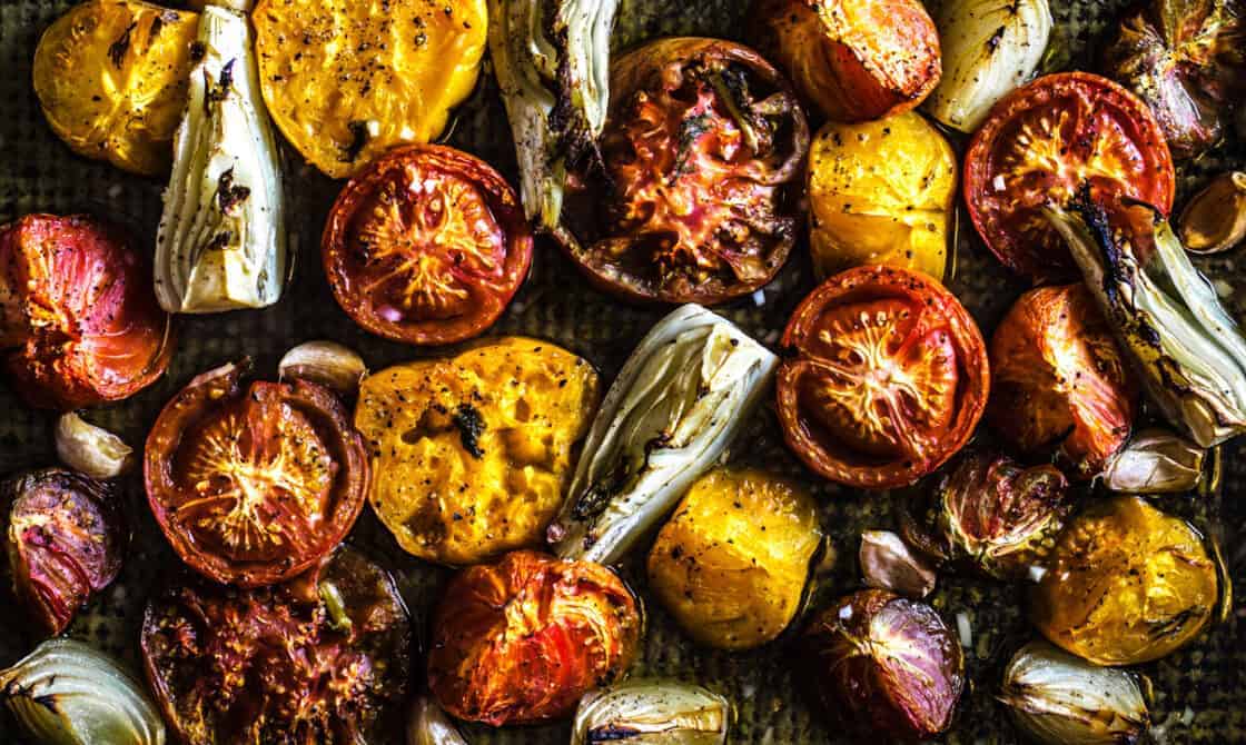
{"type": "Polygon", "coordinates": [[[495,726],[571,714],[627,670],[644,625],[614,572],[533,551],[460,572],[432,623],[434,695],[459,719],[495,726]]]}

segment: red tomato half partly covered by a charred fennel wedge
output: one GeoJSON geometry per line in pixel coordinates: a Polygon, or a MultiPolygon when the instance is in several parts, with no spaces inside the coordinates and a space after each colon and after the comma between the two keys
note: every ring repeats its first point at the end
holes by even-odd
{"type": "MultiPolygon", "coordinates": [[[[999,260],[1035,282],[1080,277],[1044,204],[1083,187],[1100,204],[1121,197],[1168,214],[1172,157],[1145,103],[1108,78],[1048,75],[991,110],[964,158],[964,201],[999,260]]],[[[1121,217],[1116,227],[1124,228],[1121,217]]]]}

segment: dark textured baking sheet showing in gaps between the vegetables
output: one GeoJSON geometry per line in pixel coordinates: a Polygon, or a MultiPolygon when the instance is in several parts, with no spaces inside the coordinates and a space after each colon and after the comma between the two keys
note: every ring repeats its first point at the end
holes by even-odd
{"type": "MultiPolygon", "coordinates": [[[[0,0],[0,222],[29,212],[92,212],[121,219],[140,245],[152,245],[159,217],[159,179],[143,179],[70,153],[49,130],[30,83],[30,65],[39,35],[71,2],[66,0],[0,0]]],[[[1094,46],[1104,24],[1123,5],[1120,0],[1052,0],[1059,41],[1078,59],[1094,46]]],[[[746,29],[746,0],[624,0],[616,34],[617,49],[664,35],[703,35],[740,39],[746,29]]],[[[1077,65],[1090,69],[1088,65],[1077,65]]],[[[515,156],[505,113],[486,71],[480,88],[457,115],[450,142],[498,166],[515,182],[515,156]]],[[[335,339],[363,353],[373,369],[411,359],[421,353],[381,341],[358,329],[335,305],[319,268],[318,239],[324,217],[340,184],[302,164],[287,149],[287,188],[299,265],[282,303],[264,311],[234,313],[181,321],[181,340],[168,375],[121,405],[92,411],[88,419],[140,446],[159,411],[193,375],[249,355],[262,375],[275,375],[275,364],[290,346],[308,339],[335,339]]],[[[1241,142],[1230,141],[1189,168],[1182,193],[1206,173],[1226,164],[1246,164],[1241,142]]],[[[963,224],[963,221],[962,221],[963,224]]],[[[952,289],[966,301],[986,334],[1023,289],[962,230],[952,289]]],[[[791,308],[811,288],[804,248],[766,290],[765,304],[753,300],[720,311],[758,339],[773,344],[791,308]]],[[[1246,267],[1235,262],[1241,252],[1204,262],[1214,278],[1234,285],[1239,318],[1246,293],[1237,287],[1246,267]]],[[[609,379],[632,346],[662,311],[622,306],[588,289],[574,269],[548,244],[540,244],[533,272],[515,304],[491,331],[551,339],[593,361],[609,379]]],[[[0,389],[0,472],[49,465],[54,460],[49,412],[19,404],[0,389]]],[[[857,587],[856,548],[862,529],[893,527],[892,505],[902,493],[860,495],[819,483],[784,450],[778,422],[764,410],[746,427],[736,448],[740,461],[782,470],[810,483],[824,505],[822,522],[834,538],[839,561],[817,577],[814,603],[857,587]]],[[[1220,536],[1231,573],[1246,586],[1246,501],[1239,495],[1246,460],[1244,446],[1222,455],[1221,488],[1201,496],[1164,500],[1164,506],[1192,518],[1220,536]]],[[[135,542],[120,581],[81,613],[71,634],[135,662],[142,607],[162,572],[176,567],[151,520],[135,481],[127,485],[128,515],[135,542]]],[[[351,541],[373,548],[400,578],[419,623],[435,602],[446,572],[405,556],[365,511],[351,541]]],[[[643,552],[638,552],[643,556],[643,552]]],[[[625,567],[643,593],[643,577],[625,567]]],[[[959,706],[949,744],[1003,744],[1019,738],[1003,708],[993,699],[1001,671],[1011,654],[1030,638],[1019,588],[941,577],[933,604],[954,625],[966,613],[972,644],[966,650],[971,685],[959,706]]],[[[695,680],[728,694],[738,705],[739,726],[733,743],[842,743],[812,715],[801,681],[790,673],[785,638],[746,654],[700,649],[684,639],[662,608],[648,603],[649,632],[633,674],[695,680]]],[[[1141,669],[1153,681],[1154,719],[1168,743],[1246,743],[1246,607],[1237,603],[1230,620],[1181,652],[1141,669]],[[1241,618],[1239,618],[1241,615],[1241,618]]],[[[0,608],[0,667],[29,652],[36,639],[25,635],[10,608],[0,608]]],[[[466,728],[480,744],[556,744],[567,741],[567,726],[487,730],[466,728]]],[[[21,743],[12,723],[0,718],[0,743],[21,743]]],[[[395,740],[397,743],[397,740],[395,740]]],[[[102,745],[102,744],[101,744],[102,745]]],[[[388,744],[375,744],[388,745],[388,744]]]]}

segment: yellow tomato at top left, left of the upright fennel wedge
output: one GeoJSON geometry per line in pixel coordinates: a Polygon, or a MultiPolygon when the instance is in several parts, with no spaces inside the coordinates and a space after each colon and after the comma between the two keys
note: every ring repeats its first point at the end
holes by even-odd
{"type": "Polygon", "coordinates": [[[35,50],[35,93],[52,131],[88,158],[167,171],[198,27],[198,14],[135,0],[71,9],[35,50]]]}

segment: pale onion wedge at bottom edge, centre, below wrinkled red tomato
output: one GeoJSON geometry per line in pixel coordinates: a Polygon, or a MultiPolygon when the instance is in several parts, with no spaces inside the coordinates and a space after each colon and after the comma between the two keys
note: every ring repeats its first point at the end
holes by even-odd
{"type": "Polygon", "coordinates": [[[628,680],[581,699],[571,745],[726,745],[731,719],[731,703],[699,685],[628,680]]]}

